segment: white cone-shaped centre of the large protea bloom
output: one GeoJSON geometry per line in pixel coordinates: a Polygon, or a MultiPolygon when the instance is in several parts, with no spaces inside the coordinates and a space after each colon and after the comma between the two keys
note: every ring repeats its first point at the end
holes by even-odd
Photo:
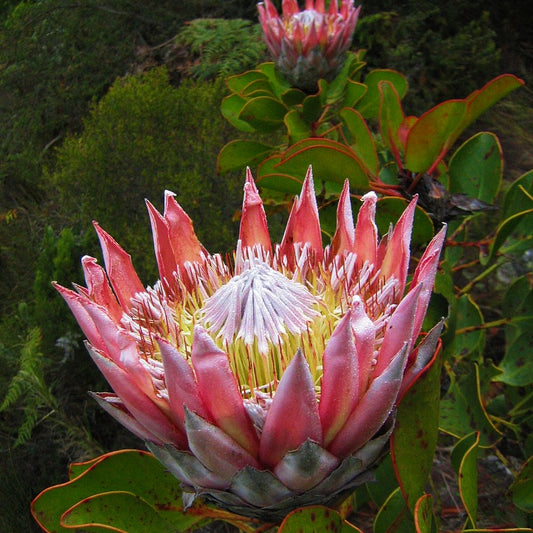
{"type": "Polygon", "coordinates": [[[247,268],[205,301],[203,322],[228,343],[257,341],[260,353],[279,344],[282,335],[300,334],[319,313],[309,290],[266,263],[247,268]]]}

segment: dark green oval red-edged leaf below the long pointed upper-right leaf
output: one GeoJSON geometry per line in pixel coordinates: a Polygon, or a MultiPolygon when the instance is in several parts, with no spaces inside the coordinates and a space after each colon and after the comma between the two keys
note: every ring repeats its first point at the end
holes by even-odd
{"type": "Polygon", "coordinates": [[[500,189],[502,148],[493,133],[478,133],[453,154],[449,168],[449,191],[492,203],[500,189]]]}

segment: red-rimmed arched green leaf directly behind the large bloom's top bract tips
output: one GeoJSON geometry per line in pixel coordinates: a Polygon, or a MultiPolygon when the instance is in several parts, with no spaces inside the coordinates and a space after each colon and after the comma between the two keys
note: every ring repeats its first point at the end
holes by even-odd
{"type": "Polygon", "coordinates": [[[368,190],[366,170],[357,155],[344,144],[318,138],[299,141],[283,154],[264,161],[257,170],[257,184],[299,194],[309,165],[313,167],[316,187],[322,182],[335,184],[329,192],[338,192],[348,179],[352,192],[368,190]]]}

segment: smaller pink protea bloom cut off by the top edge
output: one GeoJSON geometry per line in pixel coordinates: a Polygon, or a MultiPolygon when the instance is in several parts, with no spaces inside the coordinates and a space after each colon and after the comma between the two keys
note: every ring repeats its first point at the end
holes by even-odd
{"type": "Polygon", "coordinates": [[[353,0],[306,0],[300,11],[297,0],[283,0],[282,16],[270,0],[257,5],[265,41],[280,72],[307,92],[319,79],[331,81],[341,70],[350,47],[360,7],[353,0]]]}

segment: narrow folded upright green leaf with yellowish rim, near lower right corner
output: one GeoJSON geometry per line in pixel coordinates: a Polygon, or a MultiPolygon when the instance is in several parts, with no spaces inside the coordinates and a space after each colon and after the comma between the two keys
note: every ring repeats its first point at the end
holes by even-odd
{"type": "Polygon", "coordinates": [[[459,482],[459,493],[468,514],[470,527],[476,527],[477,519],[477,454],[479,433],[470,433],[454,447],[451,463],[459,482]]]}

